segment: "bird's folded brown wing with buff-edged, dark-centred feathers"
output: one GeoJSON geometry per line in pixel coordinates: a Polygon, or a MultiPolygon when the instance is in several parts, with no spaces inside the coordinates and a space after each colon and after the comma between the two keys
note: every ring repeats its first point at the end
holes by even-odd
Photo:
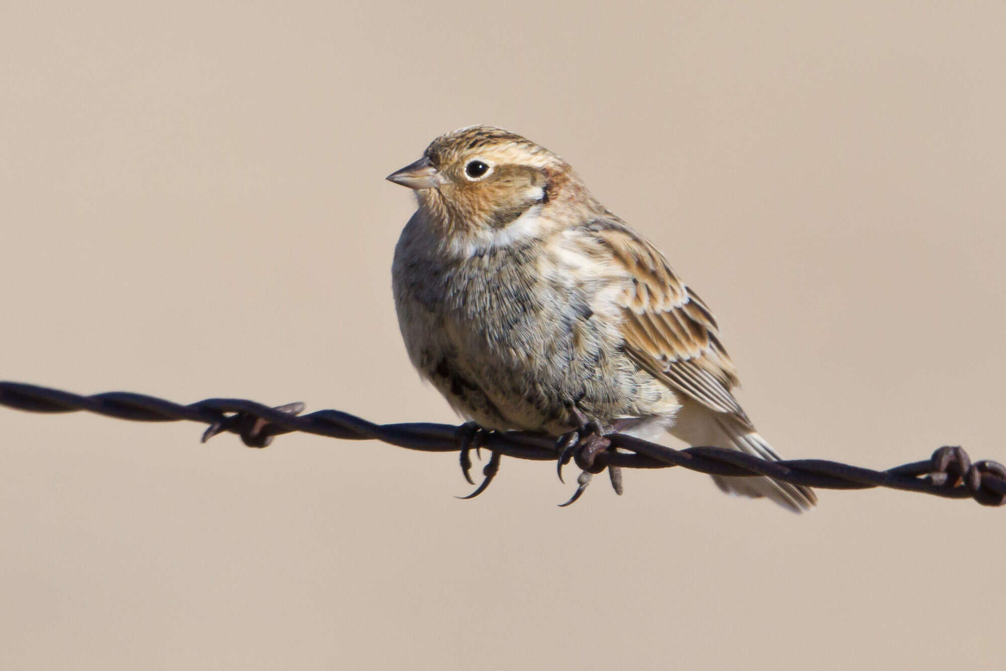
{"type": "Polygon", "coordinates": [[[631,278],[616,297],[626,352],[669,386],[753,430],[730,394],[737,384],[736,369],[702,299],[685,286],[653,243],[628,225],[604,219],[585,226],[584,232],[631,278]]]}

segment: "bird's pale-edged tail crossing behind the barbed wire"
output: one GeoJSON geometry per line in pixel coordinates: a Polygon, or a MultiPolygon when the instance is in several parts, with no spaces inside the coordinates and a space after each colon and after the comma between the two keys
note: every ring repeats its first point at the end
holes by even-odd
{"type": "MultiPolygon", "coordinates": [[[[686,401],[682,405],[669,431],[689,445],[737,449],[771,461],[782,458],[757,431],[730,415],[710,410],[694,401],[686,401]]],[[[712,480],[723,492],[742,497],[768,497],[794,513],[810,510],[817,504],[817,496],[810,489],[772,478],[713,476],[712,480]]]]}

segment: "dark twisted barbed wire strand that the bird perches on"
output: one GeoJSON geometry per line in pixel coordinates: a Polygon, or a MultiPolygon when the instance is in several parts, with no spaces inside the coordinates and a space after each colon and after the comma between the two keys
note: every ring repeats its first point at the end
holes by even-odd
{"type": "MultiPolygon", "coordinates": [[[[471,449],[485,447],[492,455],[483,469],[484,480],[469,495],[481,494],[499,469],[500,456],[531,460],[570,457],[582,468],[578,487],[568,505],[590,483],[592,474],[609,471],[621,494],[622,468],[667,468],[681,466],[711,476],[769,476],[793,485],[829,490],[865,490],[883,487],[920,492],[948,499],[974,499],[983,506],[1006,503],[1006,466],[998,461],[972,462],[961,447],[941,447],[933,456],[886,471],[873,471],[825,459],[768,461],[719,447],[674,449],[624,433],[609,433],[595,441],[591,450],[573,450],[574,442],[540,433],[485,431],[471,424],[455,426],[426,422],[375,424],[339,410],[319,410],[306,415],[303,403],[270,407],[255,401],[210,398],[188,405],[130,392],[108,392],[81,396],[58,389],[0,381],[0,405],[28,412],[92,412],[132,421],[193,421],[208,424],[203,441],[219,433],[235,433],[249,447],[266,447],[277,435],[299,431],[343,440],[380,440],[398,447],[429,452],[457,451],[466,479],[471,449]],[[564,444],[563,444],[564,443],[564,444]]],[[[474,483],[473,483],[474,484],[474,483]]]]}

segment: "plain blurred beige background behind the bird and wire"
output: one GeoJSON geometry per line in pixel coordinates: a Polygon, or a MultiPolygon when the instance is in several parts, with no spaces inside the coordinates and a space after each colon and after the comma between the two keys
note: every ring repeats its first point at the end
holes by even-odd
{"type": "MultiPolygon", "coordinates": [[[[668,254],[784,454],[1006,460],[1003,3],[37,4],[0,5],[2,378],[456,421],[383,177],[487,122],[668,254]]],[[[1003,663],[1006,510],[678,471],[560,510],[515,460],[461,502],[453,455],[200,431],[0,410],[0,667],[1003,663]]]]}

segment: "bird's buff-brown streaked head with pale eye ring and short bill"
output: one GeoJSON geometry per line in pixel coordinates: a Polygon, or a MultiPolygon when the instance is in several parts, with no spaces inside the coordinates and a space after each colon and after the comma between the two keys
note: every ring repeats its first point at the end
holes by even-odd
{"type": "Polygon", "coordinates": [[[552,152],[492,126],[442,135],[423,158],[387,178],[414,189],[421,210],[443,224],[446,237],[479,238],[501,232],[578,183],[552,152]]]}

